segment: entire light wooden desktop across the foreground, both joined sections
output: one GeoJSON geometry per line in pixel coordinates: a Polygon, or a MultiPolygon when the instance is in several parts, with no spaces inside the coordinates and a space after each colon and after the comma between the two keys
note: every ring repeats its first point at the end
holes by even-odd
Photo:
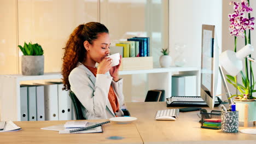
{"type": "MultiPolygon", "coordinates": [[[[59,134],[58,131],[40,129],[64,124],[66,121],[14,122],[22,130],[0,133],[0,143],[256,143],[256,135],[223,133],[221,130],[200,128],[200,118],[196,115],[199,111],[180,112],[176,121],[155,121],[157,110],[174,107],[166,107],[165,102],[126,103],[126,105],[131,116],[137,117],[138,120],[130,124],[104,124],[103,133],[59,134]],[[124,139],[109,140],[107,139],[109,136],[121,136],[124,139]]],[[[104,122],[106,119],[87,121],[104,122]]]]}

